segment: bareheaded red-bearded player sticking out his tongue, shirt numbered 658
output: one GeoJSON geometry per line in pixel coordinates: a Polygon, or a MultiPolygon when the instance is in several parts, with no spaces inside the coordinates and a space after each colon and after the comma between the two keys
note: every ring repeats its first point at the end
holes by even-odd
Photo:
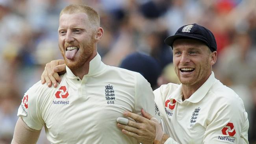
{"type": "Polygon", "coordinates": [[[93,8],[65,7],[58,32],[67,72],[57,88],[37,82],[24,94],[12,144],[36,143],[43,126],[52,144],[138,143],[116,119],[141,109],[159,117],[150,84],[137,72],[102,63],[97,42],[104,31],[93,8]]]}

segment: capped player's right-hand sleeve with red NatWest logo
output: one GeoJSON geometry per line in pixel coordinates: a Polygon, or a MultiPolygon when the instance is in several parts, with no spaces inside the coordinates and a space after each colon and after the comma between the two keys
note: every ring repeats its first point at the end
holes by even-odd
{"type": "Polygon", "coordinates": [[[206,127],[203,142],[204,144],[248,144],[248,128],[247,113],[241,99],[226,99],[206,127]]]}

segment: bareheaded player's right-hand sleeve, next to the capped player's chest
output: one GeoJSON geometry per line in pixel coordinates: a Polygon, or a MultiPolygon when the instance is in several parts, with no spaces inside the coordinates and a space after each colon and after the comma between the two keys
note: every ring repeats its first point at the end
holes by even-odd
{"type": "Polygon", "coordinates": [[[154,102],[154,94],[148,81],[136,73],[134,113],[141,115],[141,109],[154,116],[160,122],[160,112],[154,102]]]}

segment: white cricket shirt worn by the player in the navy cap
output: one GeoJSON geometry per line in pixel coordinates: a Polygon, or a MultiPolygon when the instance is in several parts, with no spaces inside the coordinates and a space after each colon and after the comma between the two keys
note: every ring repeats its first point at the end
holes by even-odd
{"type": "Polygon", "coordinates": [[[165,144],[248,144],[249,121],[243,101],[215,79],[182,101],[182,84],[169,83],[154,91],[155,102],[171,138],[165,144]]]}

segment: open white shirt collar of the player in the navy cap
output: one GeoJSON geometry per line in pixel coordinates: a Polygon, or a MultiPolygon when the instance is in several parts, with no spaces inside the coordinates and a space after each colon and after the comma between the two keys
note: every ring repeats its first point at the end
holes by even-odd
{"type": "MultiPolygon", "coordinates": [[[[209,78],[204,82],[204,84],[201,87],[199,87],[199,89],[197,89],[197,91],[195,91],[188,99],[186,99],[186,101],[197,103],[200,100],[202,100],[202,98],[204,98],[204,96],[206,96],[207,92],[210,90],[214,81],[215,76],[213,71],[211,71],[211,75],[209,76],[209,78]]],[[[178,88],[173,92],[171,99],[175,99],[178,102],[182,102],[182,96],[182,84],[180,84],[178,88]]]]}

